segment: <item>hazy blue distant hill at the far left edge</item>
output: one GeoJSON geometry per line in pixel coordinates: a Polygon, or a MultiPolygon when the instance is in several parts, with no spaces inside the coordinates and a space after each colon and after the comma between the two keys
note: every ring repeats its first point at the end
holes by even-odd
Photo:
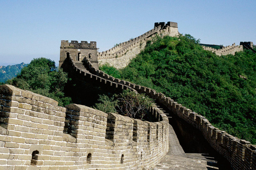
{"type": "Polygon", "coordinates": [[[14,78],[25,66],[27,66],[25,63],[0,66],[0,82],[5,82],[6,80],[14,78]]]}

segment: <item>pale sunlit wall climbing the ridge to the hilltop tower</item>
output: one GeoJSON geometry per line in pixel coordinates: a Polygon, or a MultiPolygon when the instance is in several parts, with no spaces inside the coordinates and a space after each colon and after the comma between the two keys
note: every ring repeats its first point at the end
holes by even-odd
{"type": "Polygon", "coordinates": [[[98,53],[99,65],[108,63],[117,69],[122,69],[127,66],[132,58],[141,52],[145,48],[148,40],[151,39],[156,33],[163,36],[178,36],[178,24],[175,22],[167,22],[166,24],[155,24],[156,27],[150,31],[143,33],[143,35],[133,38],[129,41],[125,41],[113,47],[106,52],[98,53]],[[164,27],[163,27],[164,26],[164,27]]]}

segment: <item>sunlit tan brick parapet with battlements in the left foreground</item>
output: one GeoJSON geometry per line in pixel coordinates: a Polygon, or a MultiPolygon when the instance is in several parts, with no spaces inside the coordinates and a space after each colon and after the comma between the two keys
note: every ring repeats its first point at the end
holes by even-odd
{"type": "Polygon", "coordinates": [[[150,169],[168,148],[168,118],[143,122],[0,86],[0,169],[150,169]]]}

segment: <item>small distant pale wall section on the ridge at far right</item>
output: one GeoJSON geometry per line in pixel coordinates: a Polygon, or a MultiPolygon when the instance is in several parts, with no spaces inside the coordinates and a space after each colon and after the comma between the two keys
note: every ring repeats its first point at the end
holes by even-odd
{"type": "Polygon", "coordinates": [[[234,55],[236,52],[243,51],[243,46],[242,45],[236,46],[235,43],[232,44],[231,46],[223,47],[221,49],[215,49],[215,48],[206,47],[206,46],[203,46],[203,48],[205,50],[209,50],[210,52],[217,54],[218,56],[228,55],[228,54],[234,55]]]}

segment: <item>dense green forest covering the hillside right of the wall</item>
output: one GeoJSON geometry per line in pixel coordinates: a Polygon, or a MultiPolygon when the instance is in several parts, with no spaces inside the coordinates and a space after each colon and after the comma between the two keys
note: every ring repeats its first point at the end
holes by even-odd
{"type": "Polygon", "coordinates": [[[113,77],[163,92],[214,126],[256,144],[256,54],[217,56],[190,35],[155,37],[113,77]]]}

